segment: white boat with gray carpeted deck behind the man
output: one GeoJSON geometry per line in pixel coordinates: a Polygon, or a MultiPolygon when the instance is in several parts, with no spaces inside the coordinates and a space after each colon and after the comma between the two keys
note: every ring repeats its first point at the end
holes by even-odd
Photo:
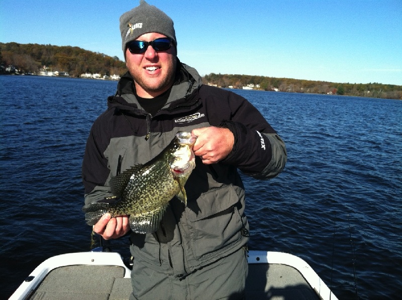
{"type": "MultiPolygon", "coordinates": [[[[248,252],[247,299],[337,300],[310,265],[283,252],[248,252]]],[[[11,295],[10,300],[128,299],[131,270],[117,252],[102,247],[67,253],[42,262],[11,295]]]]}

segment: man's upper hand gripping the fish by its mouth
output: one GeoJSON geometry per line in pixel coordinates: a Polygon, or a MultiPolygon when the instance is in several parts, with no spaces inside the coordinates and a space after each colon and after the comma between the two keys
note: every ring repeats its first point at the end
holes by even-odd
{"type": "Polygon", "coordinates": [[[193,146],[196,156],[206,165],[215,164],[226,158],[233,149],[235,137],[228,128],[204,127],[191,131],[197,137],[193,146]]]}

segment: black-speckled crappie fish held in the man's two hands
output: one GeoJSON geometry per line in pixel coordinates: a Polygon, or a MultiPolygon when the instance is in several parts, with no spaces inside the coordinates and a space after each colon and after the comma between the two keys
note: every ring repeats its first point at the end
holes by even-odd
{"type": "Polygon", "coordinates": [[[195,139],[190,132],[179,131],[154,159],[113,177],[110,186],[115,196],[85,205],[86,223],[96,224],[105,213],[130,215],[134,232],[155,232],[174,196],[186,204],[184,184],[195,167],[195,139]]]}

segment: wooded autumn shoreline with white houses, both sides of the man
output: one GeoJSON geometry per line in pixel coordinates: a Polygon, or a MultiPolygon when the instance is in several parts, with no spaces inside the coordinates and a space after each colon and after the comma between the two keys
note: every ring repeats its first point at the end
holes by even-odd
{"type": "MultiPolygon", "coordinates": [[[[117,56],[111,57],[79,47],[0,43],[0,74],[39,74],[44,70],[66,72],[70,77],[80,77],[83,73],[122,76],[127,67],[117,56]]],[[[215,73],[205,75],[203,82],[223,88],[402,99],[401,85],[375,82],[336,83],[215,73]]]]}

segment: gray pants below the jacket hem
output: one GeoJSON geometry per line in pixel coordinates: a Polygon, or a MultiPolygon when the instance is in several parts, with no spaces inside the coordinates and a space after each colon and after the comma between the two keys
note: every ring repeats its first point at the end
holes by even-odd
{"type": "Polygon", "coordinates": [[[135,299],[244,299],[248,272],[243,248],[183,279],[157,272],[134,260],[131,282],[135,299]]]}

